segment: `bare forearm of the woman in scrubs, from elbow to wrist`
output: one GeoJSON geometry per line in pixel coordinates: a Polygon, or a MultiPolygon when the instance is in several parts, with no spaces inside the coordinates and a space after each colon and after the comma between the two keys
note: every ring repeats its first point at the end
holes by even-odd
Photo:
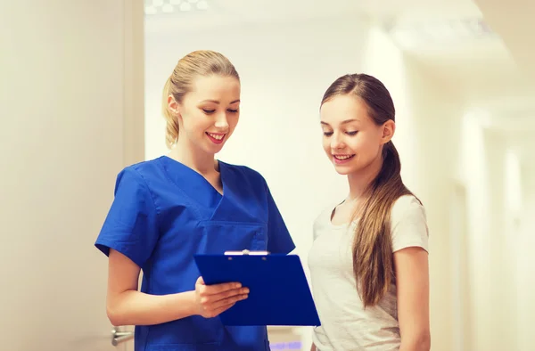
{"type": "Polygon", "coordinates": [[[107,312],[110,322],[116,326],[152,325],[197,314],[195,306],[195,291],[149,295],[128,290],[108,299],[107,312]]]}

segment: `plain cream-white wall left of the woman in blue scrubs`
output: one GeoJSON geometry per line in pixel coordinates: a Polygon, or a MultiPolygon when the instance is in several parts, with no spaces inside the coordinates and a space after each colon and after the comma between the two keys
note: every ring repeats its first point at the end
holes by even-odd
{"type": "Polygon", "coordinates": [[[94,242],[144,158],[143,4],[3,1],[0,29],[1,348],[126,350],[94,242]]]}

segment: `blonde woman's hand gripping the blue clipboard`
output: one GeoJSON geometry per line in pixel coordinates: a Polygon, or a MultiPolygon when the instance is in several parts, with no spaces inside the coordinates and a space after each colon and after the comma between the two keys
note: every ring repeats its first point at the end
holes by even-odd
{"type": "Polygon", "coordinates": [[[239,282],[206,285],[202,277],[195,282],[195,302],[204,318],[216,317],[248,296],[249,289],[239,282]]]}

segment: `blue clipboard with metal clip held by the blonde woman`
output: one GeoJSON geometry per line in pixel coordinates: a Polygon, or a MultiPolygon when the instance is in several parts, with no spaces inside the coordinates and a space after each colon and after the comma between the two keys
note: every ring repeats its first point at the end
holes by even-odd
{"type": "Polygon", "coordinates": [[[297,255],[195,255],[207,285],[240,282],[249,297],[222,314],[225,325],[320,325],[309,282],[297,255]]]}

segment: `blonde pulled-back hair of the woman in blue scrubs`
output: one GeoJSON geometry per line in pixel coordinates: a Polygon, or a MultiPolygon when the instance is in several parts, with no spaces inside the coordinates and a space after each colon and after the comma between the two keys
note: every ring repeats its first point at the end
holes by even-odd
{"type": "Polygon", "coordinates": [[[174,143],[177,143],[178,139],[178,119],[169,110],[169,95],[172,95],[175,101],[180,103],[185,94],[191,92],[195,77],[211,75],[234,77],[238,81],[240,80],[234,65],[223,54],[210,50],[200,50],[188,53],[180,59],[165,83],[161,110],[167,122],[166,144],[169,149],[174,143]]]}

